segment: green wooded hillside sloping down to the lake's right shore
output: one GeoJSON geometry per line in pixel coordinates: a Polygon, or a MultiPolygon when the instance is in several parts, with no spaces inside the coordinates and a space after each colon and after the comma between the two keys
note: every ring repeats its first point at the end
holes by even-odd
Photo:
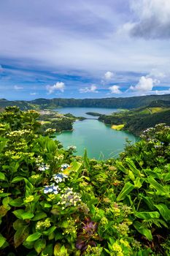
{"type": "Polygon", "coordinates": [[[126,110],[112,115],[100,115],[98,120],[111,125],[124,124],[123,129],[134,135],[140,135],[142,131],[154,127],[155,124],[170,125],[170,108],[148,106],[147,108],[126,110]]]}

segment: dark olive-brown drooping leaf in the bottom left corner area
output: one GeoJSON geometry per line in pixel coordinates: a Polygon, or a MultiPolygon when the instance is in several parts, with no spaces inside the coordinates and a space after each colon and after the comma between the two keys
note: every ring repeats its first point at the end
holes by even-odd
{"type": "Polygon", "coordinates": [[[17,229],[14,235],[14,244],[15,248],[23,244],[23,241],[26,240],[29,235],[29,227],[28,225],[21,225],[20,228],[17,229]]]}

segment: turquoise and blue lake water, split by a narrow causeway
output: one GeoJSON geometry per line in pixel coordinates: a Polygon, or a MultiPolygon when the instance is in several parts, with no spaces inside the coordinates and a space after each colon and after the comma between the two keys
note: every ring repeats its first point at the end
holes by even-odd
{"type": "Polygon", "coordinates": [[[97,117],[85,114],[86,112],[110,114],[119,110],[108,108],[58,108],[56,111],[90,118],[84,121],[75,121],[73,131],[61,132],[57,135],[57,139],[61,141],[64,148],[77,146],[77,155],[82,156],[86,148],[90,158],[108,159],[117,157],[125,148],[126,139],[133,143],[139,140],[129,132],[111,129],[109,125],[98,121],[97,117]],[[92,118],[96,118],[96,120],[92,118]]]}

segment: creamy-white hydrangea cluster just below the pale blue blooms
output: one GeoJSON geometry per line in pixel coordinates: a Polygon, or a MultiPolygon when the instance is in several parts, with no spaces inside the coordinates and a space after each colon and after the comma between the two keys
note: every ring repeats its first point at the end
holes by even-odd
{"type": "Polygon", "coordinates": [[[61,195],[61,204],[62,208],[66,208],[69,206],[77,206],[81,202],[80,194],[73,192],[72,188],[65,188],[63,190],[63,194],[61,195]]]}

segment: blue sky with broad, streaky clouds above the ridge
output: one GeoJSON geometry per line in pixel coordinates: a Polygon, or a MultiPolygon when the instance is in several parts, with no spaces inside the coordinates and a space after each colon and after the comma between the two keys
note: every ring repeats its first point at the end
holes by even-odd
{"type": "Polygon", "coordinates": [[[0,98],[170,94],[169,0],[1,0],[0,98]]]}

